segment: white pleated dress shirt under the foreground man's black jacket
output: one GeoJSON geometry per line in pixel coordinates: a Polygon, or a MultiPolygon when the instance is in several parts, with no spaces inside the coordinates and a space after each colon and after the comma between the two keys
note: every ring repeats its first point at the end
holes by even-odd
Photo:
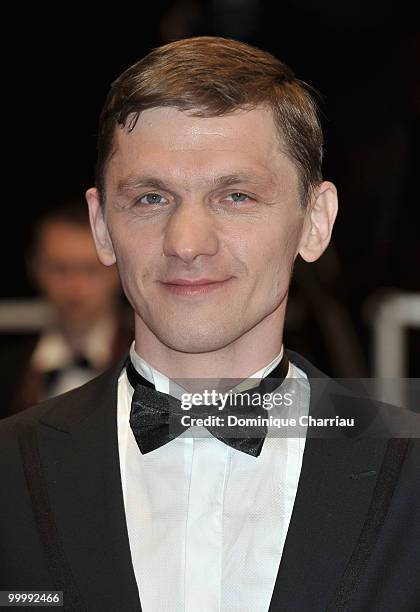
{"type": "MultiPolygon", "coordinates": [[[[134,344],[130,355],[144,378],[169,393],[169,379],[139,357],[134,344]]],[[[283,349],[250,378],[267,376],[282,355],[283,349]]],[[[294,383],[288,416],[307,414],[305,373],[291,363],[283,385],[288,381],[294,383]]],[[[305,436],[278,437],[278,429],[270,436],[269,428],[261,454],[254,457],[204,428],[194,429],[206,437],[193,437],[190,428],[142,455],[129,424],[132,395],[124,370],[118,381],[118,445],[143,612],[267,612],[305,436]]]]}

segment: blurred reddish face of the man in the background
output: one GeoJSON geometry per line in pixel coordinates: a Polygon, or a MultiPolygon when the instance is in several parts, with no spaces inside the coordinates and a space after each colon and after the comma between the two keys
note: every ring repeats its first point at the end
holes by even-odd
{"type": "Polygon", "coordinates": [[[118,276],[98,261],[88,226],[47,222],[31,267],[61,323],[76,332],[89,329],[114,303],[118,276]]]}

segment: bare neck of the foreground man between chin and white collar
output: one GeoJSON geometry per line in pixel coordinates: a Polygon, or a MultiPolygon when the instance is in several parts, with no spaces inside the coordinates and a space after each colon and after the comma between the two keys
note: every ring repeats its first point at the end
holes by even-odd
{"type": "Polygon", "coordinates": [[[208,353],[174,350],[136,317],[135,350],[168,378],[246,378],[278,355],[282,346],[284,308],[268,315],[235,342],[208,353]]]}

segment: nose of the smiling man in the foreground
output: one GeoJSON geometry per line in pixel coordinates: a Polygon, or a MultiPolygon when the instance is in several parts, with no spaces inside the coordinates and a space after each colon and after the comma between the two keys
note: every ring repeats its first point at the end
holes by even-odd
{"type": "Polygon", "coordinates": [[[197,202],[183,202],[166,225],[163,252],[190,263],[199,255],[215,255],[218,244],[215,219],[210,212],[197,202]]]}

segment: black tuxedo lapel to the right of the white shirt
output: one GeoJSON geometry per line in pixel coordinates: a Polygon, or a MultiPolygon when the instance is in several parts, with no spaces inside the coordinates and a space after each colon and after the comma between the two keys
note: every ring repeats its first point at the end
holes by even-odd
{"type": "MultiPolygon", "coordinates": [[[[334,416],[348,411],[348,396],[340,398],[331,379],[295,353],[290,352],[290,359],[308,375],[311,415],[334,416]],[[314,384],[314,380],[318,382],[314,384]]],[[[363,403],[358,410],[363,413],[364,425],[365,407],[363,403]]],[[[374,416],[372,407],[371,411],[374,416]]],[[[386,439],[354,439],[346,433],[307,438],[269,612],[329,609],[358,546],[387,445],[386,439]]]]}

